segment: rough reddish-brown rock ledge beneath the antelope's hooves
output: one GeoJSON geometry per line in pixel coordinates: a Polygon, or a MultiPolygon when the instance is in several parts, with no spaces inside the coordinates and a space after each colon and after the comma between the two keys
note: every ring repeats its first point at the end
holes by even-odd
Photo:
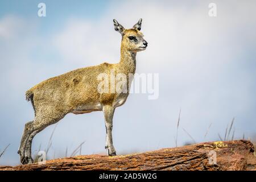
{"type": "Polygon", "coordinates": [[[256,157],[250,141],[234,140],[131,155],[80,155],[1,170],[256,170],[256,157]]]}

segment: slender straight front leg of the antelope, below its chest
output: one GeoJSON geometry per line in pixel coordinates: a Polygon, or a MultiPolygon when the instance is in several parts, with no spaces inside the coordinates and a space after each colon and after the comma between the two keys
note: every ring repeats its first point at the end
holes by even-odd
{"type": "Polygon", "coordinates": [[[108,150],[108,155],[116,155],[115,148],[113,146],[112,139],[112,128],[113,128],[113,115],[114,115],[114,107],[110,105],[103,106],[104,117],[105,117],[105,126],[106,126],[106,146],[105,148],[108,150]]]}

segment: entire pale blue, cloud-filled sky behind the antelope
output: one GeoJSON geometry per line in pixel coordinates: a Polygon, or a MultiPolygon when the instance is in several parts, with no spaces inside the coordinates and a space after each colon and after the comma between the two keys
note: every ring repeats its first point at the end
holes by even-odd
{"type": "MultiPolygon", "coordinates": [[[[26,90],[72,69],[117,63],[121,36],[113,18],[130,28],[143,19],[148,48],[137,55],[137,73],[159,73],[159,98],[131,94],[114,115],[118,154],[218,140],[235,117],[235,138],[254,138],[256,127],[254,1],[1,1],[0,164],[19,164],[16,151],[24,124],[33,119],[26,90]],[[47,16],[37,15],[46,3],[47,16]],[[210,123],[209,133],[204,138],[210,123]]],[[[35,154],[46,148],[54,126],[36,135],[35,154]]],[[[233,132],[233,130],[232,130],[233,132]]],[[[62,157],[86,140],[82,154],[105,154],[102,112],[68,114],[56,127],[49,157],[62,157]]]]}

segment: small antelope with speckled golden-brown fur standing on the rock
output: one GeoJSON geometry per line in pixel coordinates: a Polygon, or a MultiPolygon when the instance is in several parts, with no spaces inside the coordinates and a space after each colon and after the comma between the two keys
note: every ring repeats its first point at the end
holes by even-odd
{"type": "MultiPolygon", "coordinates": [[[[100,73],[110,71],[115,74],[135,73],[136,53],[146,49],[141,48],[145,40],[141,30],[141,21],[133,28],[126,30],[114,20],[115,30],[122,35],[121,59],[117,64],[103,63],[93,67],[76,69],[60,76],[49,78],[35,85],[26,92],[26,99],[32,102],[35,110],[34,121],[26,123],[20,142],[19,155],[22,164],[32,163],[31,143],[37,133],[49,125],[60,121],[66,114],[90,113],[92,111],[104,111],[106,125],[106,148],[109,155],[115,155],[112,141],[113,115],[117,101],[121,98],[125,103],[127,93],[99,93],[97,80],[100,73]],[[129,36],[135,36],[137,43],[132,42],[129,36]],[[89,109],[82,109],[84,106],[89,109]]],[[[129,86],[129,85],[127,85],[129,86]]],[[[128,87],[127,87],[128,88],[128,87]]],[[[129,91],[129,90],[128,90],[129,91]]],[[[122,105],[121,104],[121,105],[122,105]]]]}

